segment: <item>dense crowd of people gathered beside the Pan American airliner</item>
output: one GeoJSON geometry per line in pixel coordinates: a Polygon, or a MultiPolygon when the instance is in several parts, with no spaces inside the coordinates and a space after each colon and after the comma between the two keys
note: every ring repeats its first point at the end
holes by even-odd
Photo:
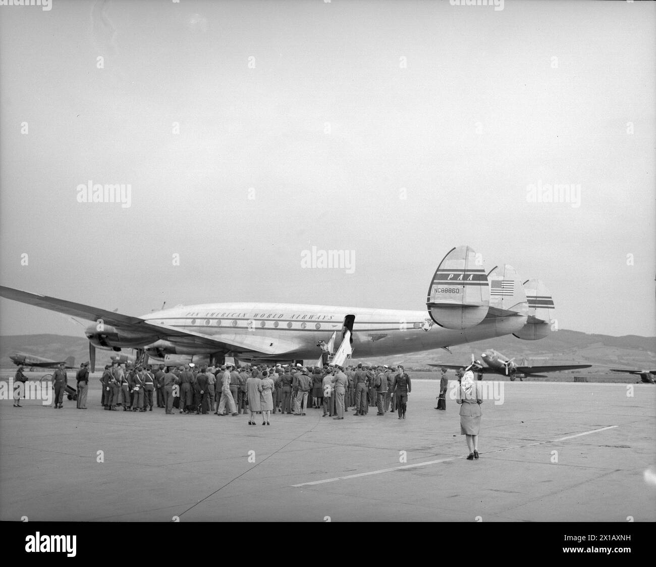
{"type": "Polygon", "coordinates": [[[262,415],[269,424],[275,413],[306,415],[306,409],[323,410],[323,417],[344,419],[353,409],[364,417],[369,408],[376,415],[398,413],[405,419],[411,380],[399,365],[363,365],[342,368],[325,365],[308,368],[297,365],[227,364],[220,367],[165,367],[159,365],[107,365],[100,378],[101,403],[108,411],[152,411],[209,414],[217,416],[262,415]]]}

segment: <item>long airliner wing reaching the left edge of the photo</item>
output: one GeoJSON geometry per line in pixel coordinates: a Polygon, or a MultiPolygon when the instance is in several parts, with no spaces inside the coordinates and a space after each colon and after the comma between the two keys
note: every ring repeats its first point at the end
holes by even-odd
{"type": "Polygon", "coordinates": [[[117,329],[131,330],[133,332],[143,332],[144,334],[155,334],[159,339],[170,340],[178,345],[184,346],[202,346],[204,348],[215,349],[217,352],[253,352],[258,354],[274,355],[296,350],[300,345],[294,341],[282,340],[279,338],[266,336],[232,336],[230,340],[216,340],[215,338],[203,333],[176,329],[167,325],[153,325],[146,323],[139,317],[131,315],[121,315],[100,309],[99,307],[87,306],[75,302],[70,302],[49,296],[33,294],[30,292],[17,290],[5,286],[0,286],[0,297],[14,300],[20,303],[42,307],[50,311],[57,311],[72,317],[87,319],[87,321],[98,321],[102,319],[105,325],[111,325],[117,329]]]}

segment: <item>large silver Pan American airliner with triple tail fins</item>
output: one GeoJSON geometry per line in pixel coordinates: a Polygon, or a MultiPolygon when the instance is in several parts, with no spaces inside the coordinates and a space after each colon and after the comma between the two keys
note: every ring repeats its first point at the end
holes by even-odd
{"type": "Polygon", "coordinates": [[[163,309],[142,317],[0,286],[0,296],[95,321],[85,330],[89,357],[96,347],[162,359],[207,355],[236,359],[314,361],[320,342],[341,344],[332,361],[379,357],[514,334],[543,338],[556,329],[554,302],[541,281],[522,283],[506,265],[489,273],[469,246],[452,248],[428,288],[426,311],[269,303],[215,303],[163,309]]]}

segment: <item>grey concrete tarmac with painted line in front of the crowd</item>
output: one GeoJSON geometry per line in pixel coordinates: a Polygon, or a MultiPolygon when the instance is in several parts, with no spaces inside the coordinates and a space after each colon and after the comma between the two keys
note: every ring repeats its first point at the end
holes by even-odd
{"type": "Polygon", "coordinates": [[[0,519],[656,520],[655,386],[504,382],[503,403],[482,405],[478,461],[438,390],[414,380],[405,420],[308,409],[270,426],[104,411],[95,378],[87,410],[5,399],[0,519]]]}

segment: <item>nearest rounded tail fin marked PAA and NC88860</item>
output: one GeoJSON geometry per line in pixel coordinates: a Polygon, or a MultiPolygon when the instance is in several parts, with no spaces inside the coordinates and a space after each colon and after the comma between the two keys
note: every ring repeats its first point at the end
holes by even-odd
{"type": "Polygon", "coordinates": [[[447,329],[478,325],[489,306],[489,285],[480,255],[469,246],[452,248],[433,275],[426,307],[430,318],[447,329]]]}

